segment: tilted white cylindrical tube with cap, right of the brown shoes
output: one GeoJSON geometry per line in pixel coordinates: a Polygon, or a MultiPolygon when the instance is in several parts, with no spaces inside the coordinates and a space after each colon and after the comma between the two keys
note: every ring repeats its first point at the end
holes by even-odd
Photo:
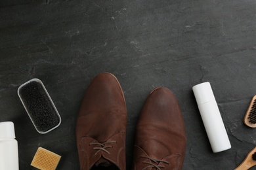
{"type": "Polygon", "coordinates": [[[213,152],[221,152],[231,148],[210,83],[203,82],[194,86],[192,90],[213,152]]]}

